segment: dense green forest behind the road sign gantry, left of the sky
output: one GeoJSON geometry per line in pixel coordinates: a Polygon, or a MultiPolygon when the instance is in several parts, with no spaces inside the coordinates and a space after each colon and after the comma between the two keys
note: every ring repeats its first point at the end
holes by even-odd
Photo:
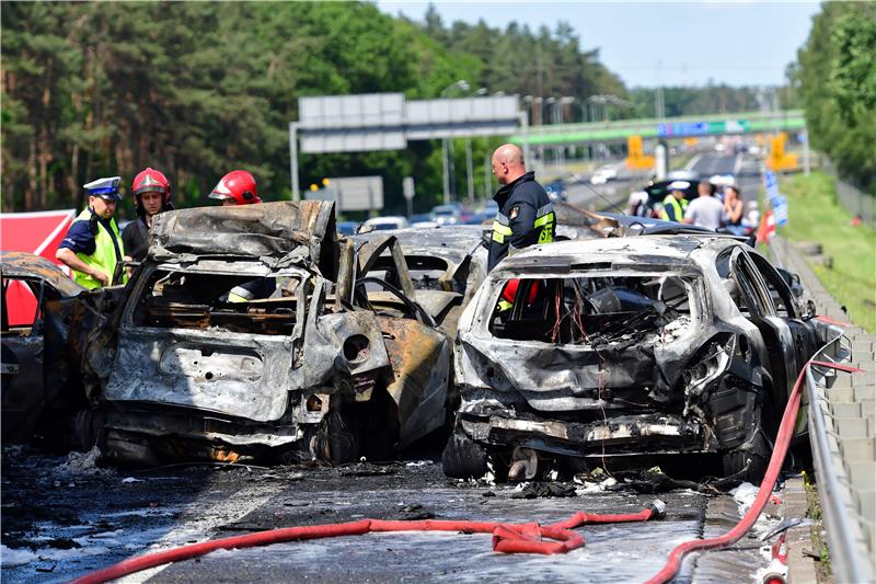
{"type": "MultiPolygon", "coordinates": [[[[565,23],[446,24],[434,9],[414,22],[358,2],[3,2],[0,10],[4,211],[81,207],[88,180],[129,182],[147,165],[169,175],[178,206],[205,204],[234,168],[253,172],[265,199],[288,198],[287,128],[304,95],[429,99],[483,88],[570,96],[564,119],[580,122],[589,96],[611,94],[631,105],[608,116],[650,115],[648,96],[627,91],[565,23]],[[445,91],[462,79],[468,91],[445,91]]],[[[747,91],[667,91],[667,114],[729,111],[750,103],[747,91]],[[706,93],[713,98],[696,96],[706,93]]],[[[550,122],[546,107],[543,117],[550,122]]],[[[473,140],[476,193],[497,140],[473,140]]],[[[453,156],[453,191],[463,194],[461,140],[453,156]]],[[[395,211],[404,207],[402,178],[415,176],[416,206],[428,209],[441,193],[440,142],[301,157],[303,188],[365,174],[383,175],[395,211]]]]}

